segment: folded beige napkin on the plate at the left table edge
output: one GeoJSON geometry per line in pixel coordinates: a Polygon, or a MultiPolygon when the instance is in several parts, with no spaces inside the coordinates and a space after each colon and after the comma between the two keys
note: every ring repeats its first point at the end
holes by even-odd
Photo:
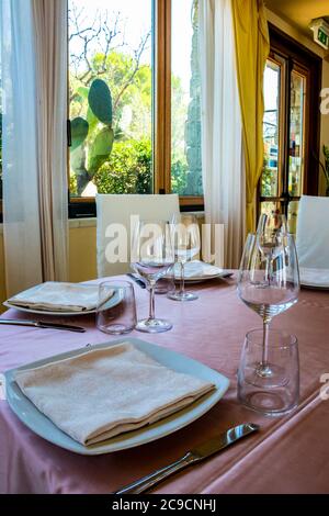
{"type": "Polygon", "coordinates": [[[8,301],[26,309],[81,312],[94,310],[98,304],[98,295],[99,285],[47,281],[20,292],[8,301]]]}

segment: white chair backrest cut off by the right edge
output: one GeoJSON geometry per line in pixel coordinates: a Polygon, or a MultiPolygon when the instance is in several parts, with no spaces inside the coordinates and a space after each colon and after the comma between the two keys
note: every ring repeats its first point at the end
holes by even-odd
{"type": "Polygon", "coordinates": [[[300,267],[329,269],[329,198],[300,198],[296,246],[300,267]]]}

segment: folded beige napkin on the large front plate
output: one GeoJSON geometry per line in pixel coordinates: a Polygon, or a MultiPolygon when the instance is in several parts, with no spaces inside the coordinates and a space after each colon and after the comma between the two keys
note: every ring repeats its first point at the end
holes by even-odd
{"type": "Polygon", "coordinates": [[[41,412],[82,445],[161,419],[214,388],[161,366],[129,343],[18,371],[15,381],[41,412]]]}

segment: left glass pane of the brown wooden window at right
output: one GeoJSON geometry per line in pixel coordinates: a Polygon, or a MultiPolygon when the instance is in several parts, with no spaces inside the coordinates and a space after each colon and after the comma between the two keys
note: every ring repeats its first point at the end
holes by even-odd
{"type": "Polygon", "coordinates": [[[279,121],[281,67],[268,60],[264,71],[264,168],[261,195],[275,197],[279,189],[279,121]]]}

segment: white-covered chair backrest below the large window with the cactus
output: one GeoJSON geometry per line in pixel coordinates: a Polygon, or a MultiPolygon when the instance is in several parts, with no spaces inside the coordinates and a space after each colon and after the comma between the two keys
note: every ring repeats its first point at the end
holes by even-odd
{"type": "MultiPolygon", "coordinates": [[[[97,194],[98,277],[124,274],[129,271],[132,222],[136,223],[138,217],[148,221],[169,221],[173,214],[177,215],[179,212],[179,197],[177,194],[97,194]],[[133,220],[132,216],[134,216],[133,220]],[[115,239],[122,226],[127,235],[127,261],[109,262],[109,254],[116,246],[115,239]]],[[[122,249],[125,251],[124,247],[122,249]]],[[[115,253],[117,254],[117,249],[115,253]]]]}

